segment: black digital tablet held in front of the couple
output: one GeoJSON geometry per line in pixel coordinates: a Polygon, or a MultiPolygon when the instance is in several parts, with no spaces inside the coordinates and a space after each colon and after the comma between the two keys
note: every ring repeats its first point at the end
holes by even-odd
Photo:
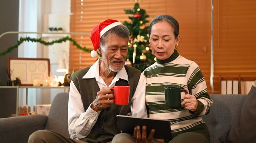
{"type": "Polygon", "coordinates": [[[117,115],[118,125],[123,133],[134,134],[134,127],[137,125],[147,126],[147,136],[151,129],[155,129],[154,139],[172,139],[171,126],[169,121],[153,119],[153,118],[138,118],[133,116],[117,115]]]}

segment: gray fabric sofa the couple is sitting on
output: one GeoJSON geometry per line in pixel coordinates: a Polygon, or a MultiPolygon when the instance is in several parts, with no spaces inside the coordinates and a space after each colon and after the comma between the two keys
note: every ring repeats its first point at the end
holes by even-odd
{"type": "MultiPolygon", "coordinates": [[[[213,105],[210,113],[203,116],[207,123],[211,143],[219,143],[219,137],[230,130],[240,114],[246,95],[210,95],[213,105]]],[[[30,134],[37,130],[55,130],[69,136],[67,130],[68,93],[55,96],[48,117],[30,115],[12,118],[0,118],[0,143],[27,143],[30,134]]]]}

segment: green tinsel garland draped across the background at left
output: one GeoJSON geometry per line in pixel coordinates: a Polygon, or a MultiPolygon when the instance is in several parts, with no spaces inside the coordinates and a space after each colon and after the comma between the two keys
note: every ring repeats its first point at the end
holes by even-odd
{"type": "Polygon", "coordinates": [[[78,45],[76,43],[76,41],[73,38],[70,38],[69,36],[64,37],[64,38],[60,38],[59,40],[53,40],[51,42],[46,42],[44,40],[42,40],[41,38],[36,39],[36,38],[30,38],[30,37],[20,37],[20,39],[17,41],[17,43],[11,47],[9,47],[6,51],[0,51],[0,56],[4,56],[6,54],[10,54],[14,49],[18,48],[19,45],[21,45],[21,43],[23,43],[24,41],[31,41],[31,42],[39,42],[43,45],[53,45],[54,43],[62,43],[62,42],[66,42],[67,40],[73,42],[73,45],[76,46],[77,49],[80,49],[82,51],[86,51],[86,52],[91,52],[92,49],[86,49],[86,47],[81,47],[80,45],[78,45]]]}

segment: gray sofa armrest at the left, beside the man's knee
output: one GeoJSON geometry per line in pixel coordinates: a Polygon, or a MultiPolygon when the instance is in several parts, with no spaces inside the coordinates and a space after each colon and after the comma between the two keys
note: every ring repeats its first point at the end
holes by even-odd
{"type": "Polygon", "coordinates": [[[3,143],[27,143],[30,134],[43,130],[46,115],[0,118],[0,139],[3,143]]]}

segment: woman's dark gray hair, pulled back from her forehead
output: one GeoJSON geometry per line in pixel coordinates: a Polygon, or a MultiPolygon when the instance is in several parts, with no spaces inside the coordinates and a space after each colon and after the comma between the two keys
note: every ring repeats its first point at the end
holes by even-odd
{"type": "Polygon", "coordinates": [[[170,15],[159,15],[159,16],[156,16],[155,18],[153,18],[149,25],[149,36],[151,34],[152,26],[158,22],[163,22],[163,21],[166,21],[171,24],[171,26],[173,27],[173,34],[174,34],[175,38],[177,38],[179,35],[179,22],[174,17],[172,17],[170,15]]]}

